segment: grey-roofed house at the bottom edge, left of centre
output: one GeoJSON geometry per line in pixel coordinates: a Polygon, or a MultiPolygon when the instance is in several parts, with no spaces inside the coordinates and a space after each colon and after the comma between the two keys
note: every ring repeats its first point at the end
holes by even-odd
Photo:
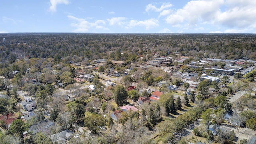
{"type": "Polygon", "coordinates": [[[64,130],[57,134],[52,134],[51,139],[52,142],[56,142],[57,144],[66,144],[66,140],[70,140],[74,132],[70,130],[64,130]]]}

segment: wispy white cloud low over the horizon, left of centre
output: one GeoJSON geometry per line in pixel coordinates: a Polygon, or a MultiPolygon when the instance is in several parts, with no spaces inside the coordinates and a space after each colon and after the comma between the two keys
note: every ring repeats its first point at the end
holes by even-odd
{"type": "Polygon", "coordinates": [[[71,26],[76,28],[73,32],[89,32],[90,29],[93,29],[93,28],[109,30],[105,26],[102,26],[106,24],[104,20],[96,20],[95,22],[88,22],[84,18],[76,18],[70,15],[68,15],[68,18],[70,20],[73,20],[73,22],[71,23],[71,26]]]}

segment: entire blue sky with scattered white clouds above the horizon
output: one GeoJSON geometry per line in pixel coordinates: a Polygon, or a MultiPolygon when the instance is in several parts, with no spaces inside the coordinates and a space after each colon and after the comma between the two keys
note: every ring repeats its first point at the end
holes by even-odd
{"type": "Polygon", "coordinates": [[[256,0],[4,0],[5,32],[256,33],[256,0]]]}

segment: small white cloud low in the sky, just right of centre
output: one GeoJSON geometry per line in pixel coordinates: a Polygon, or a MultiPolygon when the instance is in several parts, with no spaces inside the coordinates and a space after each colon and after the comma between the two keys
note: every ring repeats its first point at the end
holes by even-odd
{"type": "Polygon", "coordinates": [[[130,22],[128,24],[128,28],[132,28],[135,26],[145,26],[146,29],[149,29],[149,28],[159,26],[158,23],[159,23],[158,20],[156,20],[154,18],[144,20],[144,21],[130,20],[130,22]]]}

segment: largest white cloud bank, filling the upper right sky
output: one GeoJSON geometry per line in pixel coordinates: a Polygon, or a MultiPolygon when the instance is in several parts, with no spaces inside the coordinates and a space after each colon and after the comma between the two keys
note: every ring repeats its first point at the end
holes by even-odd
{"type": "Polygon", "coordinates": [[[190,0],[172,10],[163,10],[158,18],[164,16],[167,24],[182,29],[200,30],[208,25],[225,26],[225,32],[252,32],[256,28],[256,0],[190,0]]]}

